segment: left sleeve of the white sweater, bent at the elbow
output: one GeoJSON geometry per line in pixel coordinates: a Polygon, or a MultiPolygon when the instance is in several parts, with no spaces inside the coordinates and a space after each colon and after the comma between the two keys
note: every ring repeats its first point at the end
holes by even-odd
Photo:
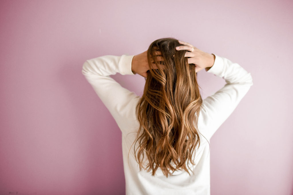
{"type": "Polygon", "coordinates": [[[82,74],[115,119],[120,130],[127,131],[135,121],[135,106],[139,96],[123,88],[110,75],[134,75],[131,62],[134,55],[106,55],[86,60],[82,74]]]}

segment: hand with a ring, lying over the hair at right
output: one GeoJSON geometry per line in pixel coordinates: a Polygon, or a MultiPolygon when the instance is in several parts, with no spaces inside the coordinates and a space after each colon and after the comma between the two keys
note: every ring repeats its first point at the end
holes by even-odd
{"type": "Polygon", "coordinates": [[[179,40],[178,42],[182,45],[176,47],[176,50],[189,51],[185,53],[184,57],[189,57],[188,64],[195,64],[195,72],[199,72],[202,69],[205,69],[205,71],[208,71],[214,65],[215,56],[213,54],[209,54],[200,49],[197,49],[190,43],[179,41],[179,40]]]}

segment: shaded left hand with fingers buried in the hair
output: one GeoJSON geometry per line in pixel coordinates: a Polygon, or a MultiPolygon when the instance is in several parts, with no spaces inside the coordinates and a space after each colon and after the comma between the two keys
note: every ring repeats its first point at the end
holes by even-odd
{"type": "MultiPolygon", "coordinates": [[[[161,52],[155,52],[155,54],[160,55],[161,52]]],[[[162,57],[158,56],[158,61],[160,61],[161,59],[162,57]]],[[[157,69],[158,67],[156,66],[156,64],[154,62],[152,63],[153,63],[154,69],[157,69]]],[[[149,70],[147,51],[137,54],[132,58],[131,70],[134,74],[137,73],[140,76],[147,78],[147,71],[149,70]]]]}

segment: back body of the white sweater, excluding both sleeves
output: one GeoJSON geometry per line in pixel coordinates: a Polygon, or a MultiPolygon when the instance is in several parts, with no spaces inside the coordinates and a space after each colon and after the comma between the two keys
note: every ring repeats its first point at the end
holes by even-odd
{"type": "Polygon", "coordinates": [[[209,143],[205,139],[197,149],[195,165],[190,166],[194,174],[189,175],[184,170],[178,170],[166,177],[160,168],[154,176],[144,169],[139,170],[133,146],[130,148],[134,138],[131,134],[127,136],[122,133],[126,194],[209,194],[209,143]]]}

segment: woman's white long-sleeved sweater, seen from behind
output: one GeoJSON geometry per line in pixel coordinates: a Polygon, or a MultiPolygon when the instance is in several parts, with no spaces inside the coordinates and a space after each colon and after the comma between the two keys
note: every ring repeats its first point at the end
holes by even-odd
{"type": "Polygon", "coordinates": [[[192,167],[194,174],[191,173],[190,176],[185,171],[176,171],[172,176],[165,177],[158,169],[156,175],[151,176],[151,172],[139,171],[139,166],[134,159],[133,146],[130,150],[139,128],[135,107],[140,96],[123,88],[109,76],[116,73],[134,75],[131,71],[133,57],[134,55],[106,55],[86,60],[82,67],[82,73],[122,131],[126,194],[210,194],[210,156],[207,140],[210,140],[253,85],[251,73],[239,64],[215,55],[214,64],[207,72],[222,77],[226,84],[203,100],[203,107],[198,118],[198,128],[202,134],[200,135],[201,144],[195,153],[195,165],[192,167]]]}

